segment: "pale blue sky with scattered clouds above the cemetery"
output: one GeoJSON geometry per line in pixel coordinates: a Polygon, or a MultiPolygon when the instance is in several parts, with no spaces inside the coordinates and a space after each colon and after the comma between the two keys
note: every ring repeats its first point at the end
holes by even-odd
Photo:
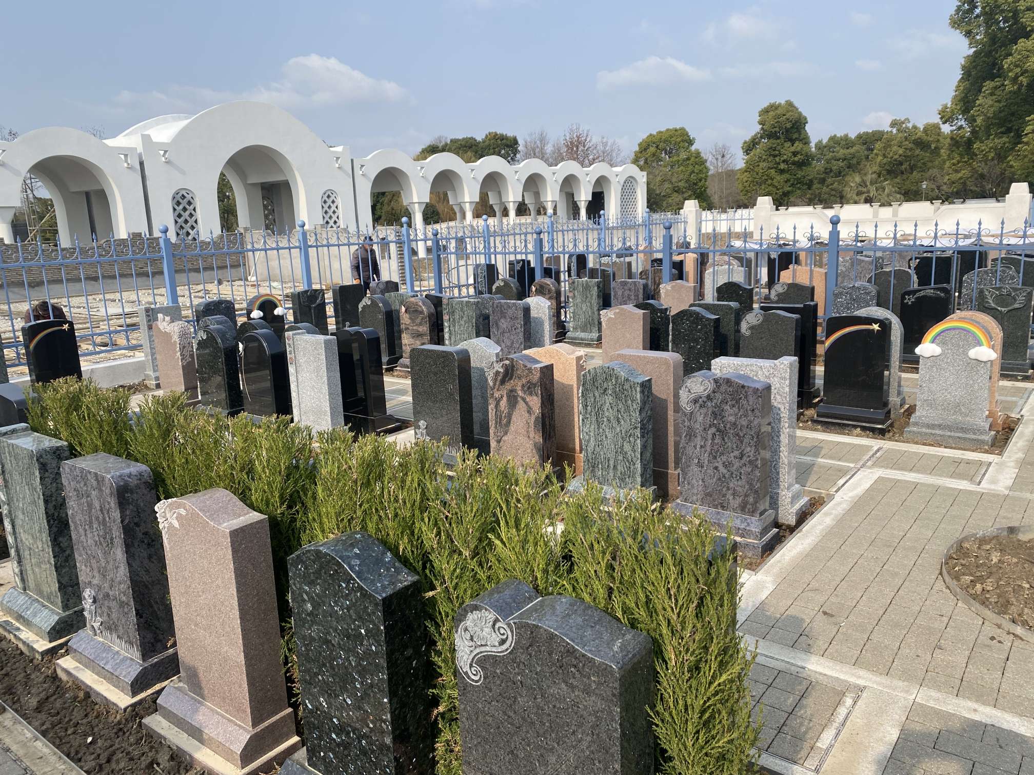
{"type": "Polygon", "coordinates": [[[276,102],[354,155],[437,134],[559,133],[580,122],[630,152],[686,126],[739,144],[793,99],[812,138],[937,118],[966,52],[953,0],[829,3],[101,4],[4,11],[0,125],[102,127],[238,98],[276,102]]]}

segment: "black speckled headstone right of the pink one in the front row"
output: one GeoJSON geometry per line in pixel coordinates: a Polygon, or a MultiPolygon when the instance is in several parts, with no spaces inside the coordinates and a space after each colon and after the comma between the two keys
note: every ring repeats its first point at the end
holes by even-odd
{"type": "Polygon", "coordinates": [[[368,533],[287,560],[305,748],[281,775],[434,771],[420,578],[368,533]]]}

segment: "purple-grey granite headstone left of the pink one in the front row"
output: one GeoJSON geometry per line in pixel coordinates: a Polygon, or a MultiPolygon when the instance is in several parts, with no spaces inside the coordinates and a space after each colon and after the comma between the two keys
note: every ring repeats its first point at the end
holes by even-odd
{"type": "Polygon", "coordinates": [[[61,479],[86,617],[68,658],[134,698],[180,672],[151,471],[99,453],[62,463],[61,479]]]}

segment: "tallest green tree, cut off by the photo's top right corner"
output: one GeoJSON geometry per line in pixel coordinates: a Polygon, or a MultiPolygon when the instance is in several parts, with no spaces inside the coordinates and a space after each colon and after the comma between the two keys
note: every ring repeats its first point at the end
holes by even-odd
{"type": "Polygon", "coordinates": [[[949,184],[1002,195],[1034,177],[1034,0],[959,0],[949,22],[970,49],[941,107],[951,127],[949,184]]]}

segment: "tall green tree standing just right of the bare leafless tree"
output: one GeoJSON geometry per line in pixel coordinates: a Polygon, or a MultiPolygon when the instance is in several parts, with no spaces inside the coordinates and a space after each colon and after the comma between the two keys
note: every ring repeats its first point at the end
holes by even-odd
{"type": "Polygon", "coordinates": [[[739,191],[750,202],[771,196],[777,205],[790,205],[811,187],[808,117],[789,99],[769,102],[758,112],[758,127],[743,142],[739,191]]]}

